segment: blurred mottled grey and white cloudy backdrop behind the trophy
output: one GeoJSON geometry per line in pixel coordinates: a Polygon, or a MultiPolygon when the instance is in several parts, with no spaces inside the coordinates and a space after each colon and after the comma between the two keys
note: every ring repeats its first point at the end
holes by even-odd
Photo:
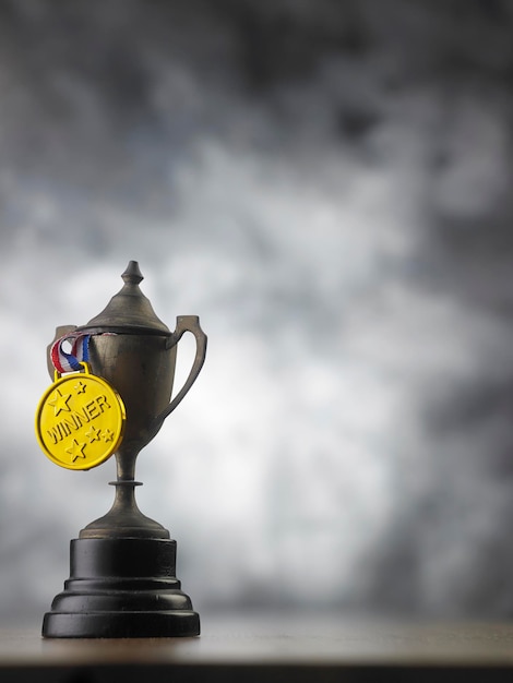
{"type": "Polygon", "coordinates": [[[33,422],[131,259],[210,337],[138,466],[200,612],[513,614],[512,124],[508,0],[2,0],[1,623],[110,506],[33,422]]]}

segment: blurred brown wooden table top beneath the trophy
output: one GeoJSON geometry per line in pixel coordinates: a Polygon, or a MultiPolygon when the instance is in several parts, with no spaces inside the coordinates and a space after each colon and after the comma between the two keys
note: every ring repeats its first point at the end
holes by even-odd
{"type": "Polygon", "coordinates": [[[513,681],[513,622],[203,615],[198,638],[44,639],[0,631],[0,682],[513,681]]]}

